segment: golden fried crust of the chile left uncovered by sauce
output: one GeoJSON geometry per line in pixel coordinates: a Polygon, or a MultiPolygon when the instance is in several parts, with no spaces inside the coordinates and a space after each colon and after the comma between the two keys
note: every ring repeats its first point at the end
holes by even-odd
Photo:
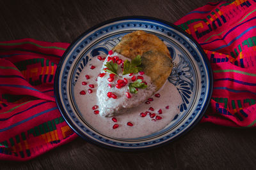
{"type": "Polygon", "coordinates": [[[145,74],[150,76],[159,90],[172,72],[172,58],[163,41],[153,34],[134,31],[126,34],[113,48],[129,59],[141,55],[141,64],[145,74]]]}

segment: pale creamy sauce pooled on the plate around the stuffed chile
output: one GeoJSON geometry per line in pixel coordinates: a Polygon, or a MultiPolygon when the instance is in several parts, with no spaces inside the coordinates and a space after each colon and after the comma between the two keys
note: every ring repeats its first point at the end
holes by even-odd
{"type": "Polygon", "coordinates": [[[164,129],[166,125],[172,122],[175,115],[179,113],[178,106],[182,103],[180,94],[172,83],[166,81],[163,87],[156,93],[160,94],[160,97],[153,95],[151,98],[154,101],[147,102],[150,104],[144,102],[139,106],[127,109],[120,115],[115,115],[117,122],[113,122],[112,117],[101,117],[99,114],[94,114],[95,110],[92,110],[92,108],[98,105],[98,85],[96,79],[99,79],[98,74],[102,69],[102,64],[103,62],[98,60],[97,57],[93,57],[88,62],[88,66],[84,67],[74,87],[77,107],[84,120],[96,129],[96,131],[113,138],[139,138],[164,129]],[[95,66],[95,68],[90,69],[91,66],[95,66]],[[89,75],[90,79],[86,80],[85,75],[89,75]],[[82,85],[83,81],[87,84],[82,85]],[[94,85],[94,88],[89,87],[90,84],[94,85]],[[92,93],[88,93],[88,89],[92,89],[92,93]],[[79,94],[81,90],[84,90],[86,94],[79,94]],[[150,107],[154,108],[154,111],[149,110],[150,107]],[[158,113],[160,109],[163,112],[161,114],[158,113]],[[150,118],[149,115],[140,117],[140,113],[145,113],[146,111],[155,113],[156,116],[161,117],[161,120],[156,120],[156,117],[150,118]],[[128,122],[132,126],[127,125],[128,122]],[[118,128],[113,129],[113,125],[115,124],[118,124],[118,128]]]}

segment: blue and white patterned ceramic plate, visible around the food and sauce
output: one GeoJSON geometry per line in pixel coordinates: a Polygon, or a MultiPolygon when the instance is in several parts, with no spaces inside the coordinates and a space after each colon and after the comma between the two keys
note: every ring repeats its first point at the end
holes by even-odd
{"type": "Polygon", "coordinates": [[[61,114],[79,136],[100,146],[140,150],[173,141],[199,122],[211,98],[212,71],[202,48],[179,27],[156,18],[115,18],[92,27],[68,47],[56,71],[54,91],[61,114]],[[110,138],[92,129],[81,117],[72,92],[92,57],[108,53],[122,36],[136,30],[155,34],[168,46],[174,63],[168,81],[177,87],[183,103],[172,124],[159,132],[136,139],[110,138]]]}

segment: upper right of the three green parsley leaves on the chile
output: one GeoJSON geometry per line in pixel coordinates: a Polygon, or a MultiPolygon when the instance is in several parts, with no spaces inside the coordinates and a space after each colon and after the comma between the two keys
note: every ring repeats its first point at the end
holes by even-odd
{"type": "Polygon", "coordinates": [[[141,67],[138,67],[141,65],[141,56],[137,55],[137,57],[131,62],[129,60],[124,61],[124,70],[123,70],[123,75],[129,74],[129,73],[138,73],[139,71],[142,70],[141,67]]]}

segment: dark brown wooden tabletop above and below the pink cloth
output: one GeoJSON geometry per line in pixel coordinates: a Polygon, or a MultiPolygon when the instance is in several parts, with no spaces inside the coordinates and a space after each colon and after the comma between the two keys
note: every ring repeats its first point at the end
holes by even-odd
{"type": "MultiPolygon", "coordinates": [[[[2,0],[0,41],[34,38],[71,43],[110,18],[145,15],[175,22],[208,2],[2,0]]],[[[255,132],[198,124],[177,141],[137,153],[107,150],[77,138],[28,162],[0,161],[0,169],[255,169],[255,132]]]]}

